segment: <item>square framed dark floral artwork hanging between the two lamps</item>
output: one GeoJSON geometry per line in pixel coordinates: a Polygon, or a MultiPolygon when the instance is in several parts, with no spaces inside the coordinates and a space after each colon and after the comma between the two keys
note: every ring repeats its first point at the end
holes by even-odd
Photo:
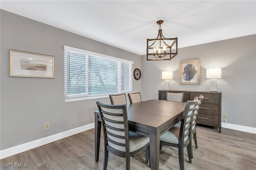
{"type": "Polygon", "coordinates": [[[180,85],[200,85],[200,59],[180,61],[180,85]]]}

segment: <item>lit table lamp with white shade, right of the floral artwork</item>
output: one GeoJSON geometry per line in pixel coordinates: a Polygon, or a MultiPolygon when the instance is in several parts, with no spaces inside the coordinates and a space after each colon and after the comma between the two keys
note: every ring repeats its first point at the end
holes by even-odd
{"type": "Polygon", "coordinates": [[[210,79],[210,91],[217,91],[217,79],[221,78],[221,68],[206,69],[206,78],[210,79]]]}

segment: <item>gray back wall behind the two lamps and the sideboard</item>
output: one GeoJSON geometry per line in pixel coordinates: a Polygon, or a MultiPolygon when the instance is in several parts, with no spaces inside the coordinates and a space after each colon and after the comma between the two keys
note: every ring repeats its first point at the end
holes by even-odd
{"type": "Polygon", "coordinates": [[[142,56],[142,97],[158,99],[164,89],[162,71],[174,71],[172,90],[209,91],[206,68],[221,67],[218,91],[222,91],[222,113],[228,123],[256,128],[256,35],[178,49],[170,61],[146,61],[142,56]],[[200,85],[179,85],[179,62],[200,59],[200,85]]]}

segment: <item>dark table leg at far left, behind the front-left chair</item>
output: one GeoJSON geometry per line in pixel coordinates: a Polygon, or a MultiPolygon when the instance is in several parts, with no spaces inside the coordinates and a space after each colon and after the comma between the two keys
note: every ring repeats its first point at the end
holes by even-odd
{"type": "Polygon", "coordinates": [[[95,162],[99,161],[99,152],[100,152],[100,131],[101,131],[101,121],[98,120],[98,114],[95,114],[95,162]]]}

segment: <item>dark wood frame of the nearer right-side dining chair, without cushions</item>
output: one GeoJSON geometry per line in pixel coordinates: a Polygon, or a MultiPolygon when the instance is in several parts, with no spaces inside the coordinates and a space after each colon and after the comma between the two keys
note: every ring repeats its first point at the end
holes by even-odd
{"type": "Polygon", "coordinates": [[[184,170],[184,147],[187,147],[188,151],[188,159],[189,163],[192,163],[192,154],[191,154],[191,142],[190,142],[190,130],[191,130],[191,121],[192,121],[192,116],[194,113],[192,113],[190,116],[188,116],[188,113],[190,111],[194,112],[195,106],[190,108],[191,105],[195,105],[198,102],[198,99],[194,101],[187,101],[183,115],[182,115],[182,121],[181,121],[181,126],[180,126],[180,134],[179,134],[179,142],[178,144],[170,143],[170,142],[165,142],[160,140],[160,148],[162,148],[162,145],[168,145],[168,146],[174,146],[178,148],[178,154],[179,154],[179,163],[180,163],[180,170],[184,170]],[[190,119],[187,121],[187,119],[190,119]],[[188,127],[186,127],[186,123],[189,124],[188,127]],[[186,130],[188,130],[186,132],[186,130]],[[185,134],[186,132],[186,134],[185,134]],[[184,137],[188,136],[188,140],[184,143],[184,137]]]}

